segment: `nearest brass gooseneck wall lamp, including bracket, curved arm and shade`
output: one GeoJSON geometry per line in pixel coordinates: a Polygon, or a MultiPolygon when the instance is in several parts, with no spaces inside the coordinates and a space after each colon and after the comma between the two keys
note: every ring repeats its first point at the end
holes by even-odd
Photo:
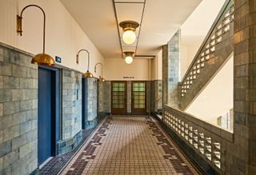
{"type": "MultiPolygon", "coordinates": [[[[40,6],[37,5],[29,5],[29,6],[25,6],[22,9],[21,15],[18,16],[17,15],[17,33],[22,36],[22,14],[23,11],[26,10],[26,8],[30,7],[30,6],[35,6],[38,7],[40,10],[42,10],[42,8],[40,6]]],[[[42,10],[42,14],[43,14],[43,42],[42,42],[42,54],[37,54],[34,56],[34,58],[32,58],[31,63],[32,64],[37,64],[37,65],[42,65],[42,66],[54,66],[55,62],[54,62],[54,58],[50,57],[50,55],[45,54],[45,45],[46,45],[46,14],[44,12],[44,10],[42,10]]]]}

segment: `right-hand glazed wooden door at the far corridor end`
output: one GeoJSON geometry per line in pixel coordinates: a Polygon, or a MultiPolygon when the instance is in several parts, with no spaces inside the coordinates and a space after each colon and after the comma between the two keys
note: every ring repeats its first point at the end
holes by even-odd
{"type": "Polygon", "coordinates": [[[131,82],[131,113],[134,115],[146,114],[146,82],[131,82]]]}

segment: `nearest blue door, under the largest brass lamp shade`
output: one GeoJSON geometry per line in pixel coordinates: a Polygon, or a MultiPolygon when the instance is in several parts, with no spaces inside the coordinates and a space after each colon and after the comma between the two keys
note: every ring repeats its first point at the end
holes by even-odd
{"type": "Polygon", "coordinates": [[[38,165],[52,156],[54,71],[38,68],[38,165]]]}

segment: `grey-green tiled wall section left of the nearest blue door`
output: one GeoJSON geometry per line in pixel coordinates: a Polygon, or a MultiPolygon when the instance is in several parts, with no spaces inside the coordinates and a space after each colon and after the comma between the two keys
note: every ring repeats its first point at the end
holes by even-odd
{"type": "Polygon", "coordinates": [[[0,43],[0,174],[38,167],[38,66],[0,43]]]}

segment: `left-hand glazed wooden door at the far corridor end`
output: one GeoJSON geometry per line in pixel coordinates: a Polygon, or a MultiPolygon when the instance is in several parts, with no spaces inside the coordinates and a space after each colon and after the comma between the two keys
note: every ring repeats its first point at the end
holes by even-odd
{"type": "Polygon", "coordinates": [[[111,113],[126,114],[126,82],[111,82],[111,113]]]}

